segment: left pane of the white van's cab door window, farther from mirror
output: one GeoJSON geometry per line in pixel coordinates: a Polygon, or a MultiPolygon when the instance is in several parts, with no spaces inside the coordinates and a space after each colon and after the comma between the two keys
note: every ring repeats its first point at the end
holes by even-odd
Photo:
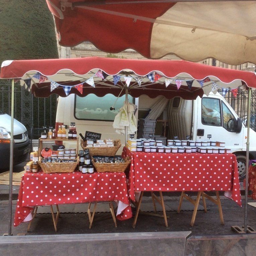
{"type": "Polygon", "coordinates": [[[202,124],[221,126],[220,100],[202,98],[202,124]]]}

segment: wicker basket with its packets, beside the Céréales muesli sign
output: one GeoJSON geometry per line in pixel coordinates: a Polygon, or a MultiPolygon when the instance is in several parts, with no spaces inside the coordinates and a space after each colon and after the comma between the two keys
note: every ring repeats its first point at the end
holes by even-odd
{"type": "Polygon", "coordinates": [[[117,150],[121,147],[120,140],[97,140],[83,141],[81,140],[83,150],[88,149],[91,156],[115,156],[117,150]]]}

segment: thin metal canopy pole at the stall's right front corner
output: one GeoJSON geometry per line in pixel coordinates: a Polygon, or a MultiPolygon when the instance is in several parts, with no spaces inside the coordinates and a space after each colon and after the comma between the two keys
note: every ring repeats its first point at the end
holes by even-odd
{"type": "Polygon", "coordinates": [[[247,233],[247,202],[248,202],[248,169],[249,169],[249,145],[250,145],[250,119],[251,119],[251,93],[249,87],[247,103],[247,142],[246,142],[246,167],[245,167],[245,210],[244,210],[244,232],[247,233]]]}

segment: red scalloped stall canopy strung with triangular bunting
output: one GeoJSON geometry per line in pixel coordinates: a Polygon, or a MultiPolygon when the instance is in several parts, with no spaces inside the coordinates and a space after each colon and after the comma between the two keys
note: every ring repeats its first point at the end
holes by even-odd
{"type": "Polygon", "coordinates": [[[230,70],[187,61],[75,58],[18,60],[2,63],[0,78],[19,78],[37,97],[71,93],[133,97],[163,95],[170,99],[202,97],[219,88],[256,87],[252,72],[230,70]]]}

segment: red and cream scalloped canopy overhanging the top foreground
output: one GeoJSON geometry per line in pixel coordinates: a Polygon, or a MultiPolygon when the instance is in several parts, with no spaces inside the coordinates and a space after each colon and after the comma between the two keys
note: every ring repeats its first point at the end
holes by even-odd
{"type": "Polygon", "coordinates": [[[152,59],[256,64],[255,1],[46,1],[62,46],[90,41],[104,52],[132,48],[152,59]]]}

